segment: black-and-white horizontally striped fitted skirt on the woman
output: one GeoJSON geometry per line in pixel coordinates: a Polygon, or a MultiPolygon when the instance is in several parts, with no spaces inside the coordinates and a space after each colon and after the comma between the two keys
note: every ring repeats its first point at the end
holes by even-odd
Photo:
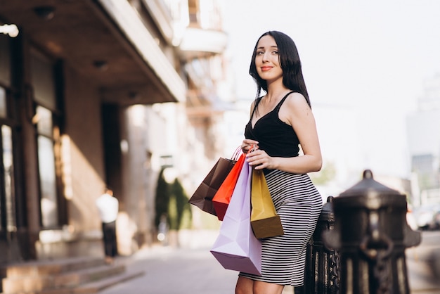
{"type": "Polygon", "coordinates": [[[255,281],[302,286],[306,245],[313,234],[323,200],[308,174],[273,170],[266,174],[284,235],[261,239],[261,276],[240,272],[255,281]]]}

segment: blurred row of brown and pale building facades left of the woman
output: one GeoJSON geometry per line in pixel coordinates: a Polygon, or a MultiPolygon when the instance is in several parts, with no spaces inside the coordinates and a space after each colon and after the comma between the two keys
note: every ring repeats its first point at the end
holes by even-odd
{"type": "Polygon", "coordinates": [[[119,200],[121,253],[153,242],[162,161],[185,177],[193,153],[179,154],[191,144],[215,157],[204,144],[226,46],[221,6],[1,1],[0,27],[11,24],[16,37],[0,34],[0,262],[102,255],[94,202],[105,186],[119,200]]]}

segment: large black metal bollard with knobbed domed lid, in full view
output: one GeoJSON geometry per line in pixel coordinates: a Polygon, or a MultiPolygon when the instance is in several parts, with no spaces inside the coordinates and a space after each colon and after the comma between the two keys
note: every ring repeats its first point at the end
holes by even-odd
{"type": "Polygon", "coordinates": [[[406,222],[406,197],[363,179],[333,200],[335,229],[325,245],[339,250],[341,294],[408,294],[405,248],[420,243],[406,222]]]}

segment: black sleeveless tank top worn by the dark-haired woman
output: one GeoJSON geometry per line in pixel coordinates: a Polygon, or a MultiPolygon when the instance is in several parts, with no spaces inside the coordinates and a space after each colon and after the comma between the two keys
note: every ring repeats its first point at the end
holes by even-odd
{"type": "Polygon", "coordinates": [[[246,124],[245,137],[258,141],[259,148],[266,151],[269,156],[282,158],[298,156],[299,140],[295,130],[278,117],[280,107],[283,105],[287,96],[293,92],[294,91],[290,91],[287,93],[277,106],[271,112],[260,117],[252,128],[252,117],[254,116],[259,101],[261,101],[261,98],[259,98],[255,103],[251,118],[246,124]]]}

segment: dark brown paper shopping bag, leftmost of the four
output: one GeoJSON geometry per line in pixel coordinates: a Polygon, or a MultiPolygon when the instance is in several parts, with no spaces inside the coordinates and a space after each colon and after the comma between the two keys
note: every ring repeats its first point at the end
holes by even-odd
{"type": "Polygon", "coordinates": [[[199,207],[202,211],[216,215],[212,198],[234,165],[235,160],[233,159],[219,158],[188,202],[199,207]]]}

